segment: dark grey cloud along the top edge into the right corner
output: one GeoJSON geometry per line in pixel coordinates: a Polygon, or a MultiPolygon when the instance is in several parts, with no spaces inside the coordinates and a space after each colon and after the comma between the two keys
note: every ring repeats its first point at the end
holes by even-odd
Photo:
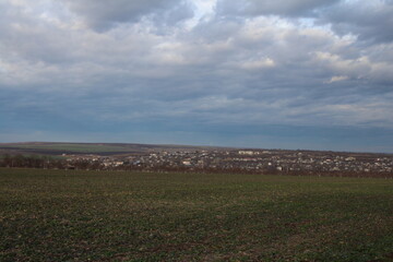
{"type": "Polygon", "coordinates": [[[331,28],[338,35],[354,35],[362,41],[391,43],[393,33],[393,1],[391,0],[218,0],[218,15],[255,17],[278,15],[286,19],[311,19],[315,23],[331,28]]]}

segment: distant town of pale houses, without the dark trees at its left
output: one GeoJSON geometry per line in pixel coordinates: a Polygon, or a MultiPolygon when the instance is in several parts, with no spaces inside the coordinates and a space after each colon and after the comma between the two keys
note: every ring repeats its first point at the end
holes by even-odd
{"type": "Polygon", "coordinates": [[[392,156],[296,151],[155,152],[110,157],[63,155],[69,167],[143,170],[209,170],[261,174],[381,174],[393,175],[392,156]]]}

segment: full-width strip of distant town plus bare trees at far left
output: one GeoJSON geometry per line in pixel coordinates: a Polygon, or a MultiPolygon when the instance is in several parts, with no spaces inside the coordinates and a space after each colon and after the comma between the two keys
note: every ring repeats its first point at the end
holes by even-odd
{"type": "Polygon", "coordinates": [[[3,154],[3,167],[91,170],[250,172],[270,175],[366,176],[393,178],[393,155],[284,150],[148,148],[103,155],[60,153],[52,156],[3,154]]]}

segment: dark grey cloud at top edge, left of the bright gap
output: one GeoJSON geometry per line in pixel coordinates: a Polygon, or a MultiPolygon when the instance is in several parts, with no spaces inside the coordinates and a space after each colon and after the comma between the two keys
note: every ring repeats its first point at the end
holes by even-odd
{"type": "Polygon", "coordinates": [[[146,15],[169,24],[193,15],[190,4],[182,0],[115,0],[110,3],[106,0],[63,1],[96,31],[106,31],[119,23],[134,23],[146,15]]]}

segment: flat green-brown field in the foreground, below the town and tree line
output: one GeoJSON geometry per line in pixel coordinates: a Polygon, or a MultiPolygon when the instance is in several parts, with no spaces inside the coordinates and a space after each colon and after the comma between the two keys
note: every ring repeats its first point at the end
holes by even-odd
{"type": "Polygon", "coordinates": [[[0,261],[392,254],[392,179],[0,169],[0,261]]]}

